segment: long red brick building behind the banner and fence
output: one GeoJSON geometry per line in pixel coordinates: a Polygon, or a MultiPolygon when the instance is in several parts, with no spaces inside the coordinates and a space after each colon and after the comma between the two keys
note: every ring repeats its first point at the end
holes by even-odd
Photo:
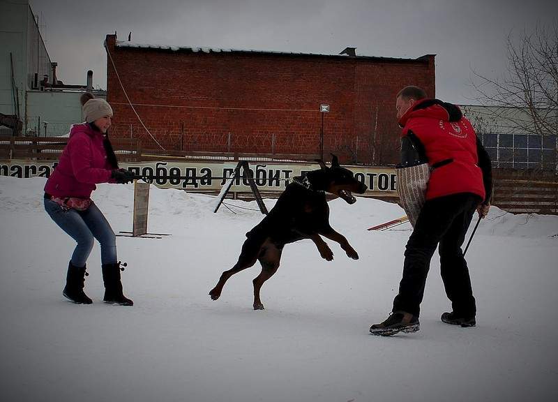
{"type": "Polygon", "coordinates": [[[112,135],[139,137],[153,149],[310,156],[323,138],[324,156],[334,152],[344,163],[395,163],[395,94],[415,84],[435,96],[431,54],[160,47],[116,35],[106,46],[112,135]]]}

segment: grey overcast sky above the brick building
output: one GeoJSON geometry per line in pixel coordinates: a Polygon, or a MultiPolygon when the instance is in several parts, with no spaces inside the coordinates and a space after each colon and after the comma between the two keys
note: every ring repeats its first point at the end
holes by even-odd
{"type": "Polygon", "coordinates": [[[557,20],[550,0],[30,0],[65,84],[106,89],[103,41],[416,58],[437,54],[437,98],[477,103],[472,71],[506,68],[506,36],[557,20]]]}

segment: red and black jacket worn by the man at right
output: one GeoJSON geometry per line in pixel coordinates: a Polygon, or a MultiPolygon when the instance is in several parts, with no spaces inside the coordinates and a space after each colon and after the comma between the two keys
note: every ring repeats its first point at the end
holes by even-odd
{"type": "Polygon", "coordinates": [[[474,193],[492,196],[490,157],[459,107],[438,99],[417,101],[399,120],[402,137],[414,135],[434,169],[426,199],[474,193]]]}

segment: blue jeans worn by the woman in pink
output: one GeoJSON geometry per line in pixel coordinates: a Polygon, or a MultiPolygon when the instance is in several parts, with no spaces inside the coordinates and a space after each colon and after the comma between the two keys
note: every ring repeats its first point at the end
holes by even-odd
{"type": "Polygon", "coordinates": [[[59,225],[64,232],[68,233],[77,242],[70,260],[74,267],[85,266],[93,249],[94,239],[97,239],[100,243],[101,264],[114,264],[117,261],[116,236],[107,218],[96,204],[91,202],[91,205],[85,211],[77,211],[76,209],[65,211],[56,202],[45,199],[45,211],[56,225],[59,225]]]}

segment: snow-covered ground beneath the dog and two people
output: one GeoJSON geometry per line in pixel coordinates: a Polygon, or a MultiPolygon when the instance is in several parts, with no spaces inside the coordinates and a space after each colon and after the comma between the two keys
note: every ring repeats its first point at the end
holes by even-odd
{"type": "MultiPolygon", "coordinates": [[[[118,238],[126,295],[103,304],[99,249],[88,262],[91,306],[62,297],[73,241],[43,209],[45,179],[0,177],[2,401],[557,401],[558,217],[492,208],[467,252],[477,327],[446,325],[432,260],[416,334],[368,334],[398,288],[405,225],[366,228],[402,209],[359,198],[330,202],[332,262],[311,241],[287,245],[252,310],[259,266],[207,293],[232,267],[262,215],[255,202],[151,187],[149,232],[118,238]]],[[[115,232],[131,230],[133,185],[98,186],[93,200],[115,232]]],[[[266,200],[268,208],[274,200],[266,200]]]]}

